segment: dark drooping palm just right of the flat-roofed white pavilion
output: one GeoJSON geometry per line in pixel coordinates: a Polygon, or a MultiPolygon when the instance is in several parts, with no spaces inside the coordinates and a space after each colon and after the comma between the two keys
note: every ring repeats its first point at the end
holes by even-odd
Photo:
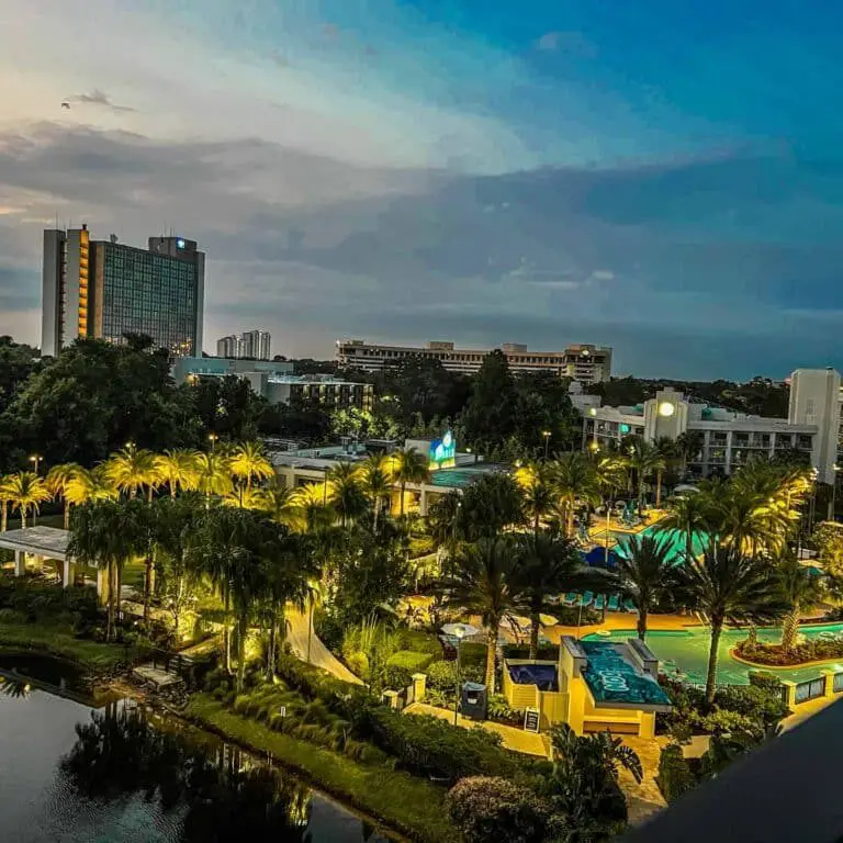
{"type": "Polygon", "coordinates": [[[68,554],[82,564],[106,571],[109,620],[106,640],[114,634],[114,619],[120,606],[120,584],[125,563],[132,558],[136,535],[132,516],[115,501],[98,501],[78,506],[70,519],[68,554]]]}

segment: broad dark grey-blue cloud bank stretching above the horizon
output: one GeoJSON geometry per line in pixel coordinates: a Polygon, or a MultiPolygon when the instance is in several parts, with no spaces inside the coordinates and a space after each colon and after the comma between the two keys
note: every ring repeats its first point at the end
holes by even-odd
{"type": "Polygon", "coordinates": [[[259,323],[288,355],[356,335],[605,342],[619,371],[688,376],[843,364],[834,161],[737,150],[471,177],[44,124],[0,136],[0,191],[26,209],[0,216],[8,308],[31,306],[58,211],[128,243],[195,237],[206,336],[259,323]]]}

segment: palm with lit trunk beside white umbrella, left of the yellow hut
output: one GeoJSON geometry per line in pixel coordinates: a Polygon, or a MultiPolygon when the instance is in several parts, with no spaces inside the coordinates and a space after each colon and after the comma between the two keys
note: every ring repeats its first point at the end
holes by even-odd
{"type": "Polygon", "coordinates": [[[442,583],[446,605],[480,615],[486,630],[486,688],[495,693],[495,653],[501,623],[512,617],[516,553],[510,539],[481,539],[464,547],[442,583]]]}

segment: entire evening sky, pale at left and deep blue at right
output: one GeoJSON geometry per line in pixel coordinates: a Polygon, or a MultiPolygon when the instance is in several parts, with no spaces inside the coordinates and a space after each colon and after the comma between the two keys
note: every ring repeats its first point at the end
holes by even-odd
{"type": "Polygon", "coordinates": [[[610,345],[843,369],[843,8],[3,0],[0,333],[45,227],[207,252],[205,350],[610,345]],[[70,104],[61,108],[63,102],[70,104]]]}

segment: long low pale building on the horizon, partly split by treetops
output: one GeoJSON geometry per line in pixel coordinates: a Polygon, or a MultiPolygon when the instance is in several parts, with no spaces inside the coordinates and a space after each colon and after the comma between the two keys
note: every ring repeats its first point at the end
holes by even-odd
{"type": "MultiPolygon", "coordinates": [[[[453,342],[428,342],[424,348],[385,346],[362,339],[337,340],[337,361],[367,372],[407,358],[439,360],[452,372],[472,373],[480,370],[491,349],[454,348],[453,342]]],[[[563,351],[528,351],[527,346],[505,342],[501,350],[515,372],[551,371],[582,384],[608,381],[611,376],[611,348],[593,345],[570,345],[563,351]]]]}

